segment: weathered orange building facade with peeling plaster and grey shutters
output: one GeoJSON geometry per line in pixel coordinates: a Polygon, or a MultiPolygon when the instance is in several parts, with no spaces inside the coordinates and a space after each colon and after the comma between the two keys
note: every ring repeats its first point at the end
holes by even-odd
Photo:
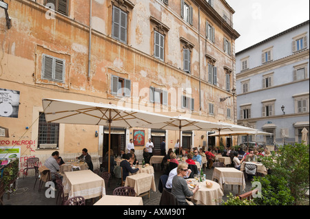
{"type": "MultiPolygon", "coordinates": [[[[98,159],[107,150],[106,127],[47,124],[43,98],[111,102],[236,124],[232,90],[239,34],[225,0],[9,0],[8,5],[10,29],[0,10],[0,89],[12,107],[0,116],[0,126],[9,129],[0,142],[21,146],[22,157],[43,162],[59,150],[71,159],[87,148],[98,159]]],[[[114,153],[136,129],[112,130],[114,153]]],[[[152,138],[156,151],[163,138],[166,148],[178,139],[174,131],[144,131],[145,143],[152,138]]],[[[206,136],[183,132],[183,146],[211,145],[206,136]]],[[[142,149],[136,147],[138,156],[142,149]]]]}

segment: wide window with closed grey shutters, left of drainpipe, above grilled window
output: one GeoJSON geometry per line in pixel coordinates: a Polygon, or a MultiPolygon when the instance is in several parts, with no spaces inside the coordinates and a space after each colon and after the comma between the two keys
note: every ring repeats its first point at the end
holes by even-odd
{"type": "Polygon", "coordinates": [[[65,60],[43,54],[42,79],[64,83],[65,60]]]}

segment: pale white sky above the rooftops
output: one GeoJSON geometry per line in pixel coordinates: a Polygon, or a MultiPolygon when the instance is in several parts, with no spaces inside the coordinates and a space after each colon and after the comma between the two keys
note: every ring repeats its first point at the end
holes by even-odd
{"type": "Polygon", "coordinates": [[[234,9],[236,52],[309,20],[309,0],[226,0],[234,9]]]}

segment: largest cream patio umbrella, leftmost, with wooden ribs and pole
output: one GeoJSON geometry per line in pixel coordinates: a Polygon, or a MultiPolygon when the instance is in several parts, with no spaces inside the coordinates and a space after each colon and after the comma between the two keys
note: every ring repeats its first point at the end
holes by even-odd
{"type": "Polygon", "coordinates": [[[171,118],[113,104],[54,99],[43,99],[42,104],[46,122],[109,127],[108,172],[110,172],[111,126],[143,127],[154,122],[167,122],[171,118]]]}

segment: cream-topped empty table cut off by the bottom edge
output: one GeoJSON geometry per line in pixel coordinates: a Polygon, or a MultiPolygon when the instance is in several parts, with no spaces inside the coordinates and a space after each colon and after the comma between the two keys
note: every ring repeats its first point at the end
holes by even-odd
{"type": "Polygon", "coordinates": [[[103,196],[94,205],[143,205],[142,197],[103,196]]]}

